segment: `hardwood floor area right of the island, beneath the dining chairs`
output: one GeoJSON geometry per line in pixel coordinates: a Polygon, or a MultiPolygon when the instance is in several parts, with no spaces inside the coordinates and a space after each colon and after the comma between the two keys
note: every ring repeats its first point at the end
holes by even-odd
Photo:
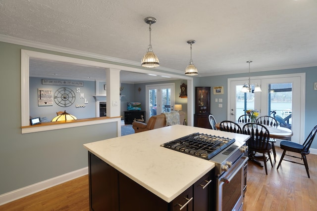
{"type": "MultiPolygon", "coordinates": [[[[267,162],[267,175],[264,168],[248,162],[243,211],[317,211],[317,155],[307,156],[311,176],[308,178],[305,166],[299,164],[282,161],[277,170],[283,151],[275,148],[276,163],[272,161],[272,168],[267,162]]],[[[287,159],[302,162],[288,156],[287,159]]]]}

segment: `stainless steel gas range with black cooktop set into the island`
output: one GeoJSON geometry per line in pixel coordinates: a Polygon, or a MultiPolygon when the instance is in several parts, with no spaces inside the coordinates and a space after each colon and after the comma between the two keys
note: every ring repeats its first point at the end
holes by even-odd
{"type": "Polygon", "coordinates": [[[209,160],[215,164],[217,211],[242,211],[246,191],[248,151],[245,142],[204,133],[192,133],[162,147],[209,160]]]}

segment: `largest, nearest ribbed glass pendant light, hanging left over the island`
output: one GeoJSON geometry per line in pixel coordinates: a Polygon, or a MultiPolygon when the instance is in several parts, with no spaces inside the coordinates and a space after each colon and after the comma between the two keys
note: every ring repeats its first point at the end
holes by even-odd
{"type": "Polygon", "coordinates": [[[159,67],[159,58],[157,55],[152,50],[152,45],[151,45],[151,25],[157,22],[157,19],[154,17],[146,17],[144,19],[144,22],[149,24],[149,29],[150,29],[150,44],[148,46],[148,51],[147,53],[143,56],[142,61],[141,61],[141,66],[142,67],[148,67],[148,68],[154,68],[154,67],[159,67]]]}

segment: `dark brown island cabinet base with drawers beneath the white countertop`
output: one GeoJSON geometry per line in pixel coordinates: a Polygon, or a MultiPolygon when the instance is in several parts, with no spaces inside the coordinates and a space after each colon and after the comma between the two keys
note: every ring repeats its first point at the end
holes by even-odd
{"type": "Polygon", "coordinates": [[[91,211],[214,211],[214,169],[167,203],[88,152],[91,211]]]}

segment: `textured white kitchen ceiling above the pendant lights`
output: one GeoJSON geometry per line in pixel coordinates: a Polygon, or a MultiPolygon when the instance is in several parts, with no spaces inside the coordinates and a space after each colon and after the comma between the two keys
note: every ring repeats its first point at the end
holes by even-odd
{"type": "Polygon", "coordinates": [[[158,69],[184,72],[187,40],[200,77],[317,66],[317,0],[1,0],[0,34],[139,65],[147,16],[158,69]]]}

